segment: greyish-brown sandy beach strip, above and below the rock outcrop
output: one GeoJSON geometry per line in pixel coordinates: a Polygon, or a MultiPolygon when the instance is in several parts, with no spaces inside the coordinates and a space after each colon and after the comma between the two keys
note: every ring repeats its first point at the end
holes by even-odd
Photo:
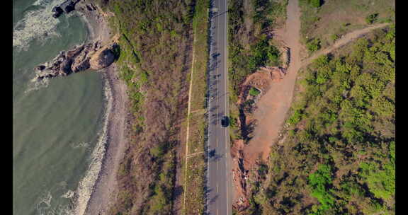
{"type": "MultiPolygon", "coordinates": [[[[82,1],[80,1],[81,4],[82,1]]],[[[78,6],[81,6],[81,5],[78,6]]],[[[79,11],[84,16],[89,27],[89,40],[100,40],[103,45],[111,41],[112,35],[108,29],[108,23],[101,13],[96,11],[79,11]]],[[[108,114],[108,129],[106,141],[106,153],[103,158],[101,172],[94,185],[85,214],[108,214],[112,202],[115,202],[118,182],[120,161],[122,161],[126,144],[125,132],[127,128],[127,99],[126,86],[118,79],[115,64],[102,69],[103,79],[111,88],[111,112],[108,114]]]]}

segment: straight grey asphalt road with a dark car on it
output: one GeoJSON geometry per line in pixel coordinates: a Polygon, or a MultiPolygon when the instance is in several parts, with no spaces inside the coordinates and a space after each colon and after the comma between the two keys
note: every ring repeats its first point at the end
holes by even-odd
{"type": "Polygon", "coordinates": [[[207,213],[232,214],[232,176],[228,127],[221,119],[229,116],[227,93],[227,0],[212,1],[210,13],[210,71],[208,103],[208,195],[207,213]]]}

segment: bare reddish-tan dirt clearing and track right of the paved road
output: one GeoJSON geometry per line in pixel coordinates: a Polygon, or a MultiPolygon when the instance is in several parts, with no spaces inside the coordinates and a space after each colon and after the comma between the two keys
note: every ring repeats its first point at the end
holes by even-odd
{"type": "MultiPolygon", "coordinates": [[[[282,40],[290,49],[290,64],[285,77],[271,83],[265,95],[256,104],[254,117],[258,124],[254,130],[254,138],[249,146],[244,149],[244,158],[255,161],[261,156],[264,161],[268,158],[269,147],[278,137],[278,132],[283,125],[285,115],[292,102],[296,74],[300,69],[300,8],[297,0],[290,0],[288,4],[288,18],[283,29],[273,33],[275,39],[282,40]]],[[[246,169],[250,168],[245,166],[246,169]]]]}

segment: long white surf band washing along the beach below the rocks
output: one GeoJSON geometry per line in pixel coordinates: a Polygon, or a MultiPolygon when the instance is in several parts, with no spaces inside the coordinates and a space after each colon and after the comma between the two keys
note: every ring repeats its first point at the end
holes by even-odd
{"type": "MultiPolygon", "coordinates": [[[[103,74],[104,76],[104,74],[103,74]]],[[[89,199],[91,199],[91,194],[94,190],[94,185],[98,179],[98,175],[101,172],[103,156],[106,151],[106,141],[108,139],[108,119],[111,115],[112,110],[112,90],[108,81],[104,81],[103,86],[104,98],[106,100],[106,111],[103,115],[103,127],[98,137],[98,142],[94,148],[91,155],[91,163],[86,171],[86,175],[79,182],[77,195],[75,199],[74,214],[83,215],[85,214],[86,207],[88,206],[89,199]]]]}

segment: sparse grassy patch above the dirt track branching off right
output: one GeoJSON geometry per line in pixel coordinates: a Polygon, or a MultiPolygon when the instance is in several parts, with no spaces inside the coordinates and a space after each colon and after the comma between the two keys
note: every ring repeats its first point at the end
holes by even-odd
{"type": "Polygon", "coordinates": [[[310,38],[317,38],[320,47],[326,48],[337,40],[334,35],[345,35],[372,23],[395,22],[395,1],[390,0],[299,0],[299,6],[301,42],[305,46],[310,38]]]}

